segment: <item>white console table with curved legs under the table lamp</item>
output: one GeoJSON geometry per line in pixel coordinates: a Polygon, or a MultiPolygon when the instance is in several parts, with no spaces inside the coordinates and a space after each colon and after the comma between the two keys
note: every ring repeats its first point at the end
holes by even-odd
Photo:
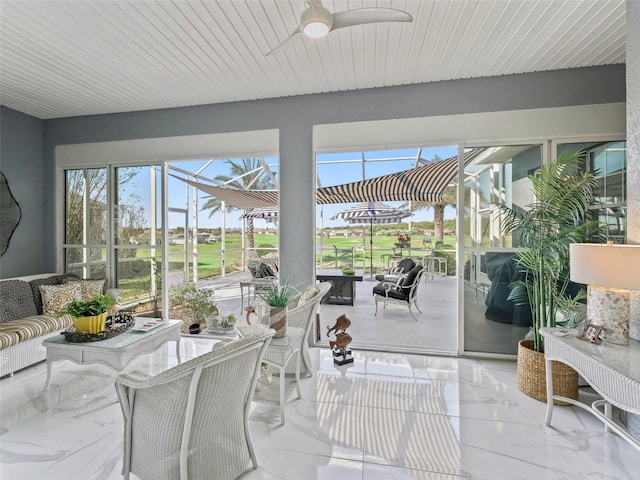
{"type": "Polygon", "coordinates": [[[612,405],[627,412],[640,414],[640,342],[631,340],[629,346],[595,344],[580,340],[575,331],[541,328],[544,337],[544,356],[547,380],[547,414],[545,425],[551,424],[553,400],[561,400],[583,408],[602,420],[610,428],[640,450],[640,442],[611,416],[612,405]],[[551,361],[557,360],[576,370],[601,400],[591,405],[570,398],[553,395],[551,361]]]}

